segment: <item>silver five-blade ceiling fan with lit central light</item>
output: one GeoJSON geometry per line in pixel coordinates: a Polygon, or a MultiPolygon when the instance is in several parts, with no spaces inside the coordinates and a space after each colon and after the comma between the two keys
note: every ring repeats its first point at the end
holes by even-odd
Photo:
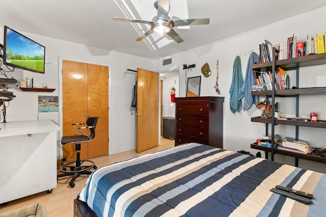
{"type": "Polygon", "coordinates": [[[170,11],[170,0],[158,0],[154,2],[154,7],[157,10],[157,16],[153,17],[152,21],[138,20],[138,19],[127,19],[114,17],[114,20],[137,22],[149,24],[151,28],[140,36],[136,41],[142,41],[152,33],[159,33],[170,36],[177,43],[183,42],[183,39],[175,32],[173,27],[175,26],[186,26],[186,25],[203,25],[209,24],[209,18],[205,19],[171,19],[168,14],[170,11]]]}

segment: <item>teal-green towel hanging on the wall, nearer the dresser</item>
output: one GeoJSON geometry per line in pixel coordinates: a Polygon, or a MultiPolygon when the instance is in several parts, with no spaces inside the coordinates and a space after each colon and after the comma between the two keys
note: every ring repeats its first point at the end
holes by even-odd
{"type": "Polygon", "coordinates": [[[233,63],[233,75],[232,83],[229,90],[230,94],[230,110],[234,114],[239,112],[242,108],[241,99],[244,96],[244,93],[241,91],[243,85],[243,77],[241,70],[241,60],[240,56],[236,56],[233,63]]]}

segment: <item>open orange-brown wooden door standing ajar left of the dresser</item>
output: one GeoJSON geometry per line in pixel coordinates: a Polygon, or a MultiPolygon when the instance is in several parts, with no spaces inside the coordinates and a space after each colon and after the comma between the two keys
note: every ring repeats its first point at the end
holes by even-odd
{"type": "Polygon", "coordinates": [[[137,152],[158,146],[158,86],[158,73],[137,69],[137,152]]]}

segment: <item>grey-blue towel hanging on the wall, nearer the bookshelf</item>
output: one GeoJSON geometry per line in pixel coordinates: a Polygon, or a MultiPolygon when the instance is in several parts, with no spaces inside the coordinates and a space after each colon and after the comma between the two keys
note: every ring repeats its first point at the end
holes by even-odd
{"type": "Polygon", "coordinates": [[[242,92],[244,92],[243,111],[249,109],[253,102],[255,104],[258,103],[258,96],[251,95],[251,91],[253,90],[252,86],[255,85],[255,75],[253,69],[251,68],[251,65],[255,63],[259,63],[259,56],[257,53],[252,52],[248,59],[246,76],[244,77],[244,83],[242,86],[242,92]]]}

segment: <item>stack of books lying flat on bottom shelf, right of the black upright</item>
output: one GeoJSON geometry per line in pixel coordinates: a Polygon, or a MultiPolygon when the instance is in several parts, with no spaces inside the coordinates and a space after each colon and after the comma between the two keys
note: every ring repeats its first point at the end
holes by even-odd
{"type": "Polygon", "coordinates": [[[282,144],[280,144],[277,148],[299,153],[308,153],[311,149],[307,141],[292,137],[285,137],[282,144]]]}

